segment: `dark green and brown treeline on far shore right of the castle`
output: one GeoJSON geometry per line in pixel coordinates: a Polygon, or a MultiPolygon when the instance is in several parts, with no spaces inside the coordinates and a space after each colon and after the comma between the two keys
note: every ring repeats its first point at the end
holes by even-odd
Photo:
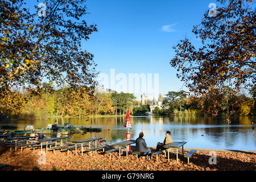
{"type": "Polygon", "coordinates": [[[249,93],[236,92],[227,88],[223,92],[209,92],[203,96],[189,95],[188,92],[168,92],[163,99],[165,114],[192,115],[255,115],[255,89],[249,93]]]}

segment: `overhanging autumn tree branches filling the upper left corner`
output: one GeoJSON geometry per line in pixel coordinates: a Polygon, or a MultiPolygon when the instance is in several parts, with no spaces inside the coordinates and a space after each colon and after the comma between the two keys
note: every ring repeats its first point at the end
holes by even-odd
{"type": "Polygon", "coordinates": [[[94,88],[96,64],[81,41],[97,28],[84,20],[85,0],[38,5],[33,10],[23,0],[0,2],[0,86],[40,86],[44,78],[52,85],[94,88]]]}

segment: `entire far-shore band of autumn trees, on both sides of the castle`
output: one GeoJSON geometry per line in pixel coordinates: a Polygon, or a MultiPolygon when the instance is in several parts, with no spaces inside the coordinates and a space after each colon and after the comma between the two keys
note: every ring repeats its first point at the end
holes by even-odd
{"type": "MultiPolygon", "coordinates": [[[[114,90],[91,92],[86,87],[66,87],[54,90],[44,86],[40,90],[1,90],[0,112],[11,118],[35,119],[51,116],[85,117],[94,115],[144,115],[149,105],[141,106],[131,93],[114,90]]],[[[246,94],[229,89],[225,93],[192,96],[185,91],[168,92],[162,109],[155,107],[155,115],[255,115],[255,92],[246,94]]]]}

